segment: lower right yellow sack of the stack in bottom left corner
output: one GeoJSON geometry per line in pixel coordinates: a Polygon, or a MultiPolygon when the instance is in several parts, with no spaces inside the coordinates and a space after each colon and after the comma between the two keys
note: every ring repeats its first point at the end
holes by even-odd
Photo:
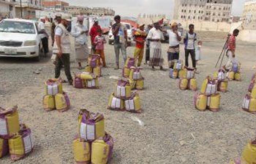
{"type": "Polygon", "coordinates": [[[14,161],[22,159],[28,153],[33,151],[34,148],[34,139],[31,135],[30,128],[27,128],[26,125],[22,124],[20,129],[19,135],[8,139],[11,160],[14,161]]]}

